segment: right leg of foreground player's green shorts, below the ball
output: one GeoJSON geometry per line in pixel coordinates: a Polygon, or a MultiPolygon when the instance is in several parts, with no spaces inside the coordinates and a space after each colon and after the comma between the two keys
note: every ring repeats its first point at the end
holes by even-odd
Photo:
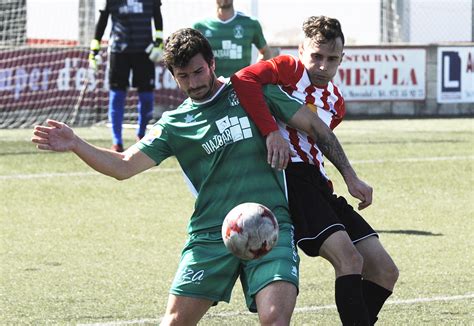
{"type": "Polygon", "coordinates": [[[290,224],[280,224],[278,242],[265,256],[243,262],[240,281],[247,307],[257,311],[257,293],[277,281],[284,281],[298,288],[300,258],[294,242],[294,231],[290,224]]]}

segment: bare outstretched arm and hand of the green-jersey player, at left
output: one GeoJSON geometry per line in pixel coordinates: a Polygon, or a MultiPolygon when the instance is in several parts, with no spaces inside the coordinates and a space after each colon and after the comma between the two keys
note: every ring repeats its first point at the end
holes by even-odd
{"type": "Polygon", "coordinates": [[[124,180],[155,166],[155,162],[138,148],[124,153],[93,146],[77,136],[68,125],[47,120],[47,126],[35,126],[31,141],[41,150],[71,151],[94,170],[124,180]]]}

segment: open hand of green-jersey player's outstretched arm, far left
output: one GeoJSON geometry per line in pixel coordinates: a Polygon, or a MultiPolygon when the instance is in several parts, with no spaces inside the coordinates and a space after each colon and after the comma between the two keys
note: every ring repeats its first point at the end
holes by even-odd
{"type": "Polygon", "coordinates": [[[38,149],[66,152],[74,149],[76,136],[66,124],[48,119],[48,126],[35,126],[31,141],[38,149]]]}

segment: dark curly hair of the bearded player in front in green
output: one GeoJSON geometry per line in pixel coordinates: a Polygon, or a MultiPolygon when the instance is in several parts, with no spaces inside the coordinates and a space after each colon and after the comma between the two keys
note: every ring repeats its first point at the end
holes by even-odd
{"type": "Polygon", "coordinates": [[[163,62],[174,75],[173,67],[185,67],[199,53],[211,65],[214,54],[209,41],[195,29],[182,28],[171,34],[165,41],[163,62]]]}

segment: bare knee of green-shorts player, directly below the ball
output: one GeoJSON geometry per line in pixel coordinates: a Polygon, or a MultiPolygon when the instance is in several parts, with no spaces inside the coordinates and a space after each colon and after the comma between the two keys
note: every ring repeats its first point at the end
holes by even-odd
{"type": "Polygon", "coordinates": [[[270,283],[255,296],[262,324],[288,325],[295,308],[298,290],[289,282],[270,283]]]}

